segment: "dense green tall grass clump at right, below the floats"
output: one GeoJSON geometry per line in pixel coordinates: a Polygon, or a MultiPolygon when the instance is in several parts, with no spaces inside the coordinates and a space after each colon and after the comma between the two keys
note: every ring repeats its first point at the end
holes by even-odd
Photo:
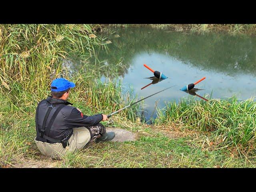
{"type": "Polygon", "coordinates": [[[256,149],[256,102],[253,99],[169,103],[155,123],[176,123],[183,128],[212,132],[222,145],[256,149]]]}

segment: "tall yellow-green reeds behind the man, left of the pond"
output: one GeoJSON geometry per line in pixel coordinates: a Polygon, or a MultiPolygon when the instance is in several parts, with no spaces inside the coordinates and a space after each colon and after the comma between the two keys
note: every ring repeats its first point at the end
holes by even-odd
{"type": "MultiPolygon", "coordinates": [[[[116,72],[115,65],[87,62],[95,55],[95,48],[106,47],[106,40],[94,34],[98,25],[0,25],[0,86],[2,96],[13,110],[34,112],[37,102],[50,94],[54,78],[64,77],[76,84],[70,100],[86,104],[88,113],[117,110],[129,102],[121,95],[121,84],[94,81],[100,72],[116,72]],[[63,70],[64,60],[84,60],[86,70],[68,73],[63,70]],[[103,66],[103,67],[102,67],[103,66]]],[[[119,61],[118,65],[121,61],[119,61]]],[[[131,95],[130,95],[131,96],[131,95]]],[[[130,97],[130,99],[133,99],[130,97]]],[[[83,106],[81,106],[83,108],[83,106]]],[[[135,119],[136,107],[126,111],[135,119]]]]}

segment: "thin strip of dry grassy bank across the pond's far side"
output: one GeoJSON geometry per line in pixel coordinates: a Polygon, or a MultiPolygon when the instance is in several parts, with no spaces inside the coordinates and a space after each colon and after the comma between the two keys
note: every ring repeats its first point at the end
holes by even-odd
{"type": "MultiPolygon", "coordinates": [[[[102,25],[105,27],[107,25],[102,25]]],[[[229,34],[256,34],[256,24],[109,24],[113,27],[140,27],[168,29],[178,32],[196,32],[204,34],[207,32],[227,32],[229,34]]]]}

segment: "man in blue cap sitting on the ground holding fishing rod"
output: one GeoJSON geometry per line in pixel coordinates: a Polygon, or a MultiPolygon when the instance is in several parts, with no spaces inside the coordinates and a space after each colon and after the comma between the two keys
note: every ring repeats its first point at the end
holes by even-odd
{"type": "Polygon", "coordinates": [[[60,158],[68,150],[83,148],[88,142],[110,141],[114,132],[106,132],[100,124],[105,114],[83,115],[67,101],[73,82],[57,78],[51,84],[51,94],[39,102],[36,108],[36,138],[40,152],[45,156],[60,158]]]}

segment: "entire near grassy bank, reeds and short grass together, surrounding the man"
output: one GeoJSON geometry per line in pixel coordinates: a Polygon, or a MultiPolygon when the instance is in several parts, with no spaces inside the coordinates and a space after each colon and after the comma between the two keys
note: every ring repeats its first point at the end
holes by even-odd
{"type": "Polygon", "coordinates": [[[117,71],[116,65],[106,68],[100,61],[88,62],[96,48],[107,49],[108,42],[95,32],[97,28],[0,25],[1,166],[37,162],[42,167],[44,162],[54,162],[54,167],[255,167],[256,104],[250,100],[169,104],[153,126],[140,122],[135,106],[113,116],[113,124],[104,124],[139,133],[137,141],[90,144],[59,161],[42,157],[33,141],[34,115],[37,103],[50,94],[54,78],[75,82],[69,101],[87,115],[108,114],[133,99],[121,93],[121,84],[98,81],[100,72],[117,71]],[[62,63],[78,55],[85,68],[70,74],[62,63]],[[191,134],[168,137],[164,128],[191,134]]]}

